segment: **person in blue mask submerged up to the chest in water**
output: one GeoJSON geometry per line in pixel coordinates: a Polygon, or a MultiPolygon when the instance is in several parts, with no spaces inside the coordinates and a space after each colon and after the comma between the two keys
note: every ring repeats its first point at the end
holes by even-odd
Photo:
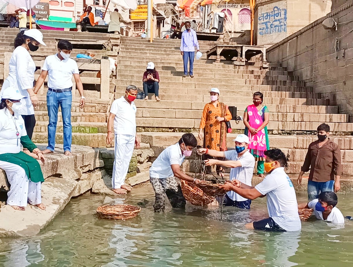
{"type": "Polygon", "coordinates": [[[332,191],[321,192],[318,198],[308,202],[298,204],[298,209],[314,209],[317,219],[332,224],[345,224],[345,218],[336,207],[337,195],[332,191]]]}

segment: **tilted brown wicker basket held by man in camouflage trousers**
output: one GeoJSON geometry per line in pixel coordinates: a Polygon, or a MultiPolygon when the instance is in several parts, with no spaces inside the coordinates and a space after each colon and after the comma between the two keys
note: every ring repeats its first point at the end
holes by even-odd
{"type": "Polygon", "coordinates": [[[207,206],[215,201],[215,198],[204,194],[194,183],[180,180],[181,191],[187,201],[195,206],[207,206]]]}

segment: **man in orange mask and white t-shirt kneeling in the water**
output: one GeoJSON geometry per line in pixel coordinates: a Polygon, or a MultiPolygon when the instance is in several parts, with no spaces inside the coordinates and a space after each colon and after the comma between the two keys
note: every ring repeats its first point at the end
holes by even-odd
{"type": "Polygon", "coordinates": [[[264,231],[300,231],[297,197],[294,187],[284,168],[288,166],[286,155],[280,149],[265,151],[265,172],[269,173],[255,187],[234,180],[222,185],[228,191],[234,191],[251,200],[267,197],[269,218],[246,224],[249,229],[264,231]]]}

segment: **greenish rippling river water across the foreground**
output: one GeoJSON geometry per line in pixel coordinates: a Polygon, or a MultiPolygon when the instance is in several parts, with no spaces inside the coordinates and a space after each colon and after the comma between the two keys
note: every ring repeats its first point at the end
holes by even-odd
{"type": "MultiPolygon", "coordinates": [[[[105,196],[74,198],[41,231],[29,238],[2,238],[0,266],[353,266],[353,221],[330,226],[314,218],[301,233],[249,231],[243,225],[267,217],[265,198],[250,211],[233,207],[202,209],[187,204],[164,214],[153,212],[150,184],[133,188],[118,203],[148,201],[137,218],[99,219],[95,209],[105,196]]],[[[305,201],[305,194],[298,195],[305,201]]],[[[353,194],[340,194],[343,215],[352,215],[353,194]]]]}

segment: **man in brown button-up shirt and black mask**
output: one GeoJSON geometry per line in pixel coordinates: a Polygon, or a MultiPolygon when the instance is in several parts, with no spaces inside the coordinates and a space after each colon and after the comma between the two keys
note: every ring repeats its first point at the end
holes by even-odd
{"type": "Polygon", "coordinates": [[[307,187],[310,201],[318,198],[321,192],[337,192],[341,188],[341,151],[339,146],[328,138],[329,134],[329,125],[323,123],[317,127],[318,140],[309,145],[299,173],[298,184],[301,185],[304,172],[310,170],[307,187]]]}

